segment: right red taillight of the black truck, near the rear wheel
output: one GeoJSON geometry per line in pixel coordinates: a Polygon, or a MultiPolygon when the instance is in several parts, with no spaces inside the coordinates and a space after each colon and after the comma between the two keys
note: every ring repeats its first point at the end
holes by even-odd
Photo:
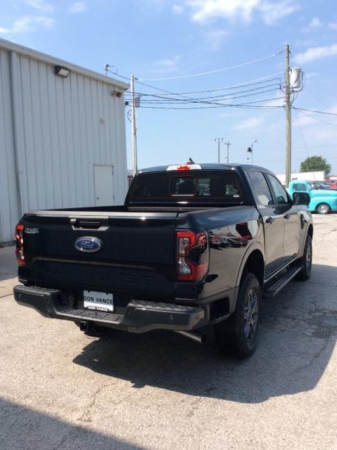
{"type": "Polygon", "coordinates": [[[208,271],[207,233],[176,231],[177,280],[198,281],[208,271]]]}

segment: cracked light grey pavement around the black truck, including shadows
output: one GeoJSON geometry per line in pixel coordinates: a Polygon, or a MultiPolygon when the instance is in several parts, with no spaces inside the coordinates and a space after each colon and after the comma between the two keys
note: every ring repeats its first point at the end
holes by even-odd
{"type": "Polygon", "coordinates": [[[0,249],[1,450],[336,450],[337,214],[314,215],[314,264],[265,302],[260,344],[113,332],[20,307],[0,249]]]}

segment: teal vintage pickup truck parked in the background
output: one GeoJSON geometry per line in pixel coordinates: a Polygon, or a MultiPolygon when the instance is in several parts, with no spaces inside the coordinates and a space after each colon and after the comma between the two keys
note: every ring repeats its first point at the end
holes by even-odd
{"type": "Polygon", "coordinates": [[[288,191],[292,197],[294,193],[308,193],[310,203],[307,207],[311,212],[329,214],[331,211],[337,211],[337,191],[333,189],[317,189],[310,181],[295,180],[289,184],[288,191]]]}

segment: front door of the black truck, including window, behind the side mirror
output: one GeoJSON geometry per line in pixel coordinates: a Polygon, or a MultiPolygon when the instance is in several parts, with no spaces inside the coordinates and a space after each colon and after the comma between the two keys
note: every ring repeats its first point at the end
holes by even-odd
{"type": "Polygon", "coordinates": [[[274,197],[276,209],[284,217],[284,262],[298,255],[300,248],[300,213],[293,205],[276,176],[266,174],[274,197]]]}

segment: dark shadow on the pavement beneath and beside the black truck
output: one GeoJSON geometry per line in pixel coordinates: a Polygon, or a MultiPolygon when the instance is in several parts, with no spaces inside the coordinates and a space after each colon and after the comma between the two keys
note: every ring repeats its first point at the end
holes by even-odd
{"type": "Polygon", "coordinates": [[[337,267],[315,264],[310,281],[292,282],[264,303],[257,351],[238,361],[222,356],[212,338],[199,345],[164,330],[113,331],[93,340],[75,364],[97,373],[199,397],[259,403],[314,389],[336,343],[337,267]]]}

